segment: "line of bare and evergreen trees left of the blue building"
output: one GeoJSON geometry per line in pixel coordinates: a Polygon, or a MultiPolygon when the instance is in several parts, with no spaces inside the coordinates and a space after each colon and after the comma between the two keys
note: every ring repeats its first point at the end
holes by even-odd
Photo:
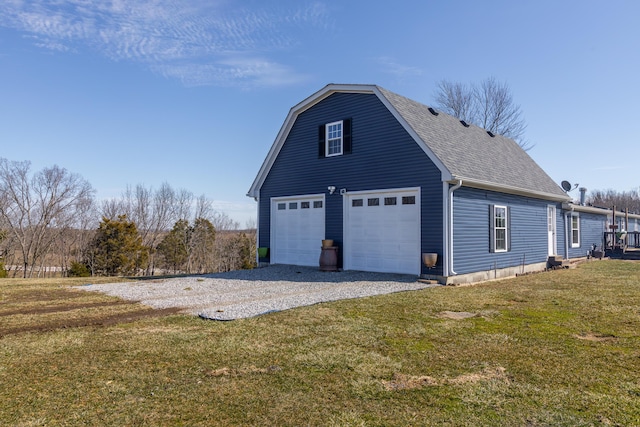
{"type": "Polygon", "coordinates": [[[168,183],[98,202],[59,166],[0,158],[0,275],[157,275],[255,266],[255,226],[168,183]],[[51,274],[51,273],[49,273],[51,274]]]}

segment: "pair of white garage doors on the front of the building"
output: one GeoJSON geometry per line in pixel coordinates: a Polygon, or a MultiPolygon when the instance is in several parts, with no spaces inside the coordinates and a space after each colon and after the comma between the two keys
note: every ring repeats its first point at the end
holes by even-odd
{"type": "MultiPolygon", "coordinates": [[[[343,198],[345,270],[420,274],[419,189],[326,197],[343,198]]],[[[325,202],[324,194],[271,200],[271,263],[318,265],[321,240],[336,237],[325,236],[325,202]]]]}

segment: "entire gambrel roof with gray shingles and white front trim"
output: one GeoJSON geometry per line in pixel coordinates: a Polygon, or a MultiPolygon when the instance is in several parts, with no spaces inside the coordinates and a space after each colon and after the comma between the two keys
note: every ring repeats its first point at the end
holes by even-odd
{"type": "Polygon", "coordinates": [[[294,106],[276,137],[248,196],[259,188],[284,144],[297,116],[334,93],[377,96],[440,169],[443,181],[548,200],[570,197],[514,140],[489,134],[474,125],[376,85],[329,84],[294,106]],[[437,114],[434,114],[437,113],[437,114]]]}

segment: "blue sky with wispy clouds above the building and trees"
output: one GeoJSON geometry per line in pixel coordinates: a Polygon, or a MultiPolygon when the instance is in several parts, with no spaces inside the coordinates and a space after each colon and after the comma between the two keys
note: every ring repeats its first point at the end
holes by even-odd
{"type": "Polygon", "coordinates": [[[552,178],[630,190],[638,16],[636,0],[3,0],[0,157],[57,164],[98,199],[168,182],[244,225],[289,109],[327,83],[432,105],[440,80],[493,76],[552,178]]]}

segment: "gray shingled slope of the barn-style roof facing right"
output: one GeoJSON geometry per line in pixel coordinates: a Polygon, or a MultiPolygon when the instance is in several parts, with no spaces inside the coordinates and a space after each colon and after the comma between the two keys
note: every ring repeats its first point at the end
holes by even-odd
{"type": "Polygon", "coordinates": [[[463,126],[448,114],[377,87],[380,93],[440,159],[454,178],[567,197],[560,186],[514,140],[463,126]]]}

